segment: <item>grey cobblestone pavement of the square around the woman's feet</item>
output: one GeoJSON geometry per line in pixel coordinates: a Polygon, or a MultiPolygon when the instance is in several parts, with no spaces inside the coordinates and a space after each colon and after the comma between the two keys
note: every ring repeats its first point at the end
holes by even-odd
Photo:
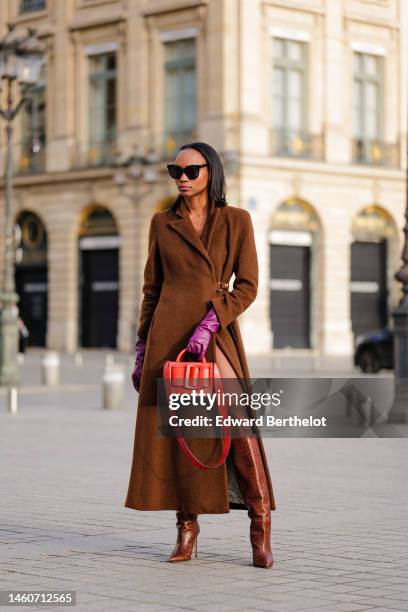
{"type": "Polygon", "coordinates": [[[123,507],[136,394],[102,410],[92,352],[43,389],[38,355],[18,414],[0,392],[0,590],[76,591],[81,612],[408,609],[406,438],[264,439],[274,567],[252,566],[242,510],[201,515],[198,558],[171,564],[175,513],[123,507]]]}

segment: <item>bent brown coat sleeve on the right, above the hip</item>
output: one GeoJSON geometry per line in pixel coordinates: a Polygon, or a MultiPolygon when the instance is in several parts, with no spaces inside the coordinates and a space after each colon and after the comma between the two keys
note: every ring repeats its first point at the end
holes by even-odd
{"type": "Polygon", "coordinates": [[[251,215],[243,210],[234,259],[235,280],[232,291],[213,298],[211,304],[217,313],[221,328],[232,323],[254,301],[258,293],[258,258],[251,215]]]}

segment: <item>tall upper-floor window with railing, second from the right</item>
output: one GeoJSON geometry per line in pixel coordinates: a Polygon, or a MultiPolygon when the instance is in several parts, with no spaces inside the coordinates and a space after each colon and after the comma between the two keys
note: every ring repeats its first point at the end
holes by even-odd
{"type": "Polygon", "coordinates": [[[308,43],[273,38],[273,155],[320,158],[322,137],[308,129],[308,43]]]}

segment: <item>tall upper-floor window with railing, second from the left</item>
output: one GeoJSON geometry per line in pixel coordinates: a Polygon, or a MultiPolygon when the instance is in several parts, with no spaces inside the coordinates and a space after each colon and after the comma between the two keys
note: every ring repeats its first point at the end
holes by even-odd
{"type": "Polygon", "coordinates": [[[116,153],[116,53],[89,56],[89,165],[112,163],[116,153]]]}

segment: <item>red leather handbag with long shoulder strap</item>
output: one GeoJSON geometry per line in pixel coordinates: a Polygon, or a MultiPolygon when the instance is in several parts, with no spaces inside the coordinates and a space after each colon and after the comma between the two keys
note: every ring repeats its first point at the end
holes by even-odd
{"type": "MultiPolygon", "coordinates": [[[[207,361],[203,357],[203,361],[181,361],[187,349],[184,348],[176,357],[176,361],[166,361],[163,368],[164,386],[166,390],[167,401],[171,393],[190,393],[193,389],[200,391],[203,389],[206,393],[216,393],[218,390],[222,392],[221,376],[216,363],[207,361]]],[[[227,410],[223,403],[218,405],[219,414],[223,417],[227,416],[227,410]]],[[[209,470],[217,468],[226,460],[230,446],[231,433],[227,425],[222,425],[223,429],[223,447],[220,458],[215,465],[207,465],[202,463],[188,448],[180,428],[176,427],[178,443],[191,463],[201,470],[209,470]]]]}

